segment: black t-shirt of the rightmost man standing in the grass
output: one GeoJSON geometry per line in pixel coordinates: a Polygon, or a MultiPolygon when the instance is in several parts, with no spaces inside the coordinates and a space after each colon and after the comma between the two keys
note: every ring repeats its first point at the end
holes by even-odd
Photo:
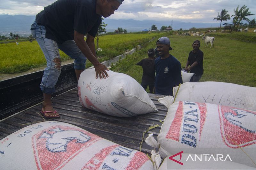
{"type": "Polygon", "coordinates": [[[195,73],[196,75],[203,75],[204,68],[203,68],[203,59],[204,59],[204,53],[199,50],[196,53],[193,53],[193,50],[189,52],[188,55],[188,61],[189,65],[191,66],[193,63],[197,61],[196,67],[193,67],[190,72],[195,73]]]}

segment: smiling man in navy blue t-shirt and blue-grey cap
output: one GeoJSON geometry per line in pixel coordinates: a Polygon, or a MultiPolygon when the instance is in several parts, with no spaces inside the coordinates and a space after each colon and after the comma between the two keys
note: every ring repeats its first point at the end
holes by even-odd
{"type": "Polygon", "coordinates": [[[156,45],[159,57],[155,60],[155,94],[173,96],[172,88],[182,84],[181,64],[174,56],[169,54],[169,50],[172,50],[169,38],[159,38],[156,45]]]}

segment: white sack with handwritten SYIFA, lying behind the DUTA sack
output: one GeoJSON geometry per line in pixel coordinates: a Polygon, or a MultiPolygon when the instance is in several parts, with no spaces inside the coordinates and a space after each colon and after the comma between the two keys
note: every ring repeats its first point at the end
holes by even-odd
{"type": "Polygon", "coordinates": [[[256,87],[223,82],[187,82],[173,88],[175,101],[213,103],[256,110],[256,87]],[[177,93],[177,94],[176,94],[177,93]]]}

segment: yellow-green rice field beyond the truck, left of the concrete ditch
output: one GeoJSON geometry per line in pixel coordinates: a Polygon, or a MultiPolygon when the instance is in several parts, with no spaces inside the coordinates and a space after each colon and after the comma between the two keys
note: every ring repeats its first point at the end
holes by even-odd
{"type": "MultiPolygon", "coordinates": [[[[97,55],[100,56],[100,62],[103,62],[123,54],[124,51],[132,49],[138,44],[144,44],[159,35],[163,35],[163,33],[129,33],[100,36],[99,48],[102,48],[102,51],[99,51],[97,55]]],[[[60,51],[60,56],[62,61],[70,59],[70,57],[62,51],[60,51]]],[[[19,45],[16,45],[15,42],[0,44],[0,73],[20,73],[44,65],[46,65],[46,60],[36,41],[19,42],[19,45]]],[[[92,66],[92,64],[88,61],[86,67],[90,66],[92,66]]]]}

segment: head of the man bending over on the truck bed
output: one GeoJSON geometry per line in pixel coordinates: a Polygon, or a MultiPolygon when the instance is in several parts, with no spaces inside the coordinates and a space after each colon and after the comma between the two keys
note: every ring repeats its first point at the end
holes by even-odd
{"type": "Polygon", "coordinates": [[[96,13],[104,18],[114,14],[124,0],[97,0],[96,13]]]}

